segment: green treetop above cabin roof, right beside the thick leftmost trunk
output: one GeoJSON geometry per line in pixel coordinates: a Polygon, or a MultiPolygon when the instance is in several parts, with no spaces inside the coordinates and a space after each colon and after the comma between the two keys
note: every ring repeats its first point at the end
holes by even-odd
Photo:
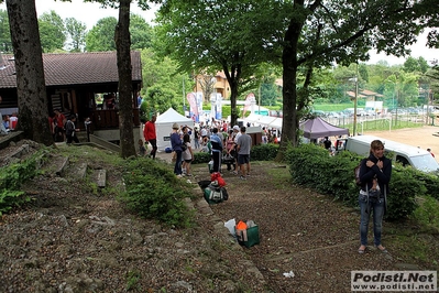
{"type": "Polygon", "coordinates": [[[39,19],[41,45],[44,53],[63,50],[66,42],[63,19],[53,10],[43,13],[39,19]]]}

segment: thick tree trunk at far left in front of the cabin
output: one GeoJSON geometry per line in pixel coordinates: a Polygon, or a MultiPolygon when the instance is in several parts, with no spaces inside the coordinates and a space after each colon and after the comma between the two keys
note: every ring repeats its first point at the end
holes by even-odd
{"type": "Polygon", "coordinates": [[[54,143],[47,122],[47,95],[34,0],[7,0],[17,72],[19,130],[45,145],[54,143]]]}

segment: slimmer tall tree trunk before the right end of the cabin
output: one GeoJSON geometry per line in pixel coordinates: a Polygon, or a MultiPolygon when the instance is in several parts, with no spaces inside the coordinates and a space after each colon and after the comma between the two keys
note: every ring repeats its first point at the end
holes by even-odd
{"type": "Polygon", "coordinates": [[[130,41],[130,4],[131,0],[120,0],[119,21],[116,26],[114,41],[118,55],[119,73],[119,129],[121,156],[135,155],[133,134],[134,91],[132,88],[131,41],[130,41]]]}

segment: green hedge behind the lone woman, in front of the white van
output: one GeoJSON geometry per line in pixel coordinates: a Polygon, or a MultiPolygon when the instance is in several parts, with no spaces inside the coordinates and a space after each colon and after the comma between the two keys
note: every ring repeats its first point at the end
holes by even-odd
{"type": "MultiPolygon", "coordinates": [[[[295,183],[332,196],[348,206],[358,206],[359,187],[354,182],[353,169],[361,156],[348,151],[336,156],[314,144],[289,148],[286,159],[290,163],[290,174],[295,183]]],[[[417,207],[415,196],[436,195],[439,178],[411,167],[396,164],[389,183],[386,218],[405,218],[417,207]]]]}

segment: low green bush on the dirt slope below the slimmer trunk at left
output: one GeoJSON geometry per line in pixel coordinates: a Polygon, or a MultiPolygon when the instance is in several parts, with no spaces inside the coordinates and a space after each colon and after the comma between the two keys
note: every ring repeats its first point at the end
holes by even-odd
{"type": "Polygon", "coordinates": [[[163,164],[150,159],[133,159],[125,163],[125,192],[119,197],[140,216],[176,227],[191,225],[193,215],[185,197],[190,194],[163,164]]]}

